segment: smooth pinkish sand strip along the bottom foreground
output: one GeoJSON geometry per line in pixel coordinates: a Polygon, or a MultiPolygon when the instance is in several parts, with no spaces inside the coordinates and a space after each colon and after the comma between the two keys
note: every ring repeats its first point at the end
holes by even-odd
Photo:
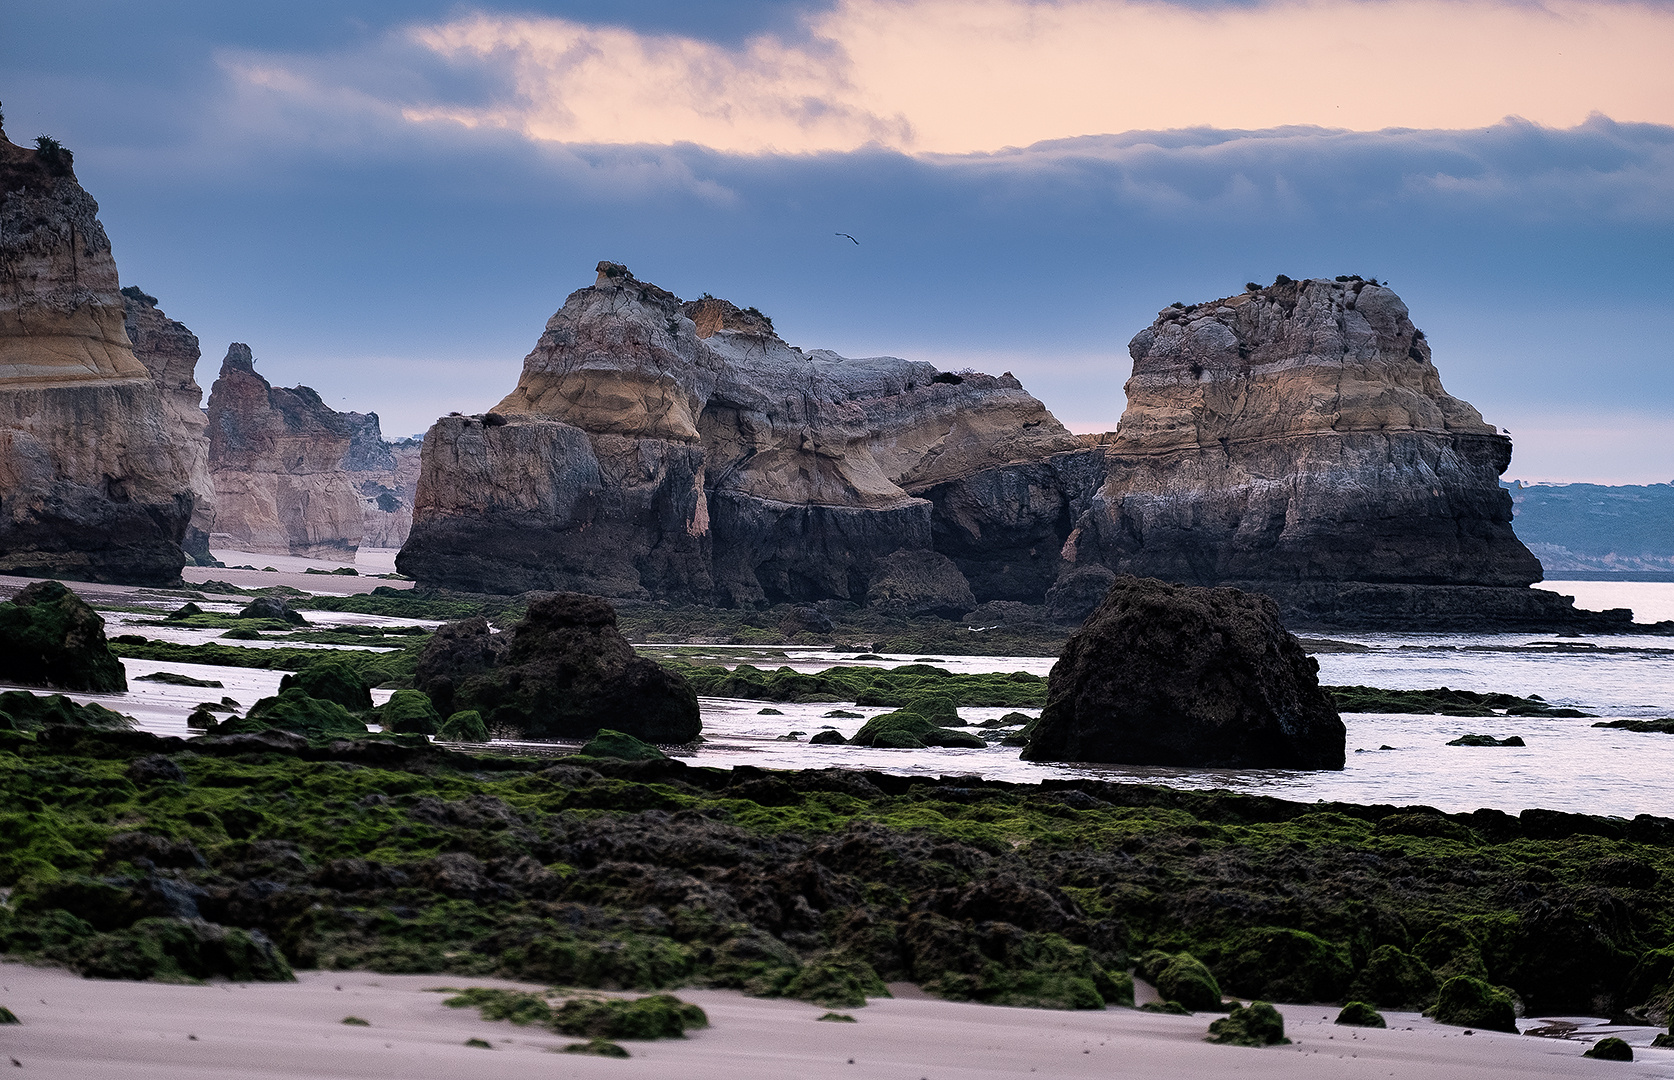
{"type": "MultiPolygon", "coordinates": [[[[1629,1065],[1590,1062],[1585,1043],[1436,1026],[1388,1013],[1389,1030],[1339,1028],[1334,1008],[1284,1006],[1291,1047],[1212,1047],[1212,1016],[1130,1008],[1051,1011],[897,996],[854,1010],[857,1023],[819,1023],[825,1010],[733,991],[680,991],[710,1028],[686,1040],[626,1043],[626,1062],[551,1057],[571,1041],[541,1028],[445,1008],[435,986],[519,986],[435,975],[306,971],[285,985],[107,983],[0,963],[0,1005],[22,1025],[0,1028],[0,1058],[23,1077],[89,1080],[355,1078],[450,1080],[462,1075],[788,1080],[984,1080],[991,1077],[1145,1077],[1147,1080],[1458,1077],[1674,1077],[1674,1050],[1635,1048],[1629,1065]],[[370,1026],[345,1026],[360,1016],[370,1026]],[[467,1047],[480,1038],[492,1050],[467,1047]],[[492,1055],[492,1057],[489,1057],[492,1055]]],[[[537,990],[529,986],[529,990],[537,990]]],[[[1625,1033],[1630,1041],[1649,1038],[1625,1033]]],[[[0,1062],[3,1063],[3,1062],[0,1062]]]]}

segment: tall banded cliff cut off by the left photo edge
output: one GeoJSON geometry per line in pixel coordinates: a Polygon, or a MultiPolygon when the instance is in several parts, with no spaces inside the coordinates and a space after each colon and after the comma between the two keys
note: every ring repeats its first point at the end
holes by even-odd
{"type": "Polygon", "coordinates": [[[67,151],[0,132],[0,573],[179,579],[193,449],[134,357],[67,151]]]}

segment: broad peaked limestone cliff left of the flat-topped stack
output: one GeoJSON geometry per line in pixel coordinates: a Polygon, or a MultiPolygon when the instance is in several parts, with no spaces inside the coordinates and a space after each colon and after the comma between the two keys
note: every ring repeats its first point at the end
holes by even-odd
{"type": "MultiPolygon", "coordinates": [[[[937,496],[1071,445],[1011,377],[805,353],[753,310],[601,263],[494,412],[425,437],[398,566],[489,591],[859,601],[881,556],[931,549],[937,496]]],[[[949,529],[1014,517],[963,509],[949,529]]]]}

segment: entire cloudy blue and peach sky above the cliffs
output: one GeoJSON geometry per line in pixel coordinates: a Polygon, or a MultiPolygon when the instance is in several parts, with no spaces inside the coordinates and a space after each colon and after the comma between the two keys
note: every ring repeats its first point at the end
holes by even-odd
{"type": "Polygon", "coordinates": [[[0,0],[206,390],[422,432],[611,260],[1110,430],[1160,308],[1356,273],[1545,482],[1674,479],[1669,57],[1674,0],[0,0]]]}

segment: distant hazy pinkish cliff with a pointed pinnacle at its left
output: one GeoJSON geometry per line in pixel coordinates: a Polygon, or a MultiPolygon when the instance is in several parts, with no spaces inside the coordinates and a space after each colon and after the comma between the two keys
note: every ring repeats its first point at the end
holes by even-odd
{"type": "Polygon", "coordinates": [[[362,496],[343,462],[353,427],[310,387],[281,388],[233,343],[209,390],[216,548],[353,561],[362,496]]]}

